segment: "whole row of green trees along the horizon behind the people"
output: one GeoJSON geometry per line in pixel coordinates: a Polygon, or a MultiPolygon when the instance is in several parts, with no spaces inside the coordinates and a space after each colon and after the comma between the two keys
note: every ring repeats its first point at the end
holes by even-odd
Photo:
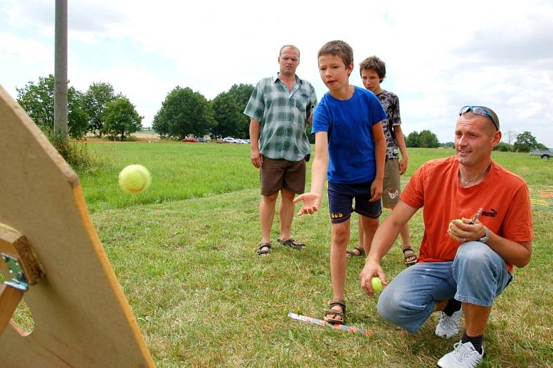
{"type": "MultiPolygon", "coordinates": [[[[186,136],[211,135],[214,138],[231,136],[250,137],[250,119],[243,114],[254,90],[252,84],[234,84],[228,91],[219,93],[213,100],[189,87],[176,86],[167,93],[161,107],[153,117],[152,129],[165,139],[182,140],[186,136]]],[[[109,136],[124,140],[142,129],[142,119],[135,106],[122,93],[115,93],[106,82],[94,82],[85,92],[68,87],[68,133],[81,138],[91,132],[97,136],[109,136]]],[[[42,129],[53,129],[54,124],[54,76],[39,77],[17,89],[17,102],[42,129]]],[[[315,138],[306,127],[310,142],[315,138]]],[[[407,147],[453,147],[453,142],[440,143],[428,129],[412,131],[405,137],[407,147]]],[[[509,143],[500,142],[499,151],[529,151],[545,149],[529,131],[522,134],[509,132],[509,143]],[[511,145],[511,138],[516,142],[511,145]]]]}

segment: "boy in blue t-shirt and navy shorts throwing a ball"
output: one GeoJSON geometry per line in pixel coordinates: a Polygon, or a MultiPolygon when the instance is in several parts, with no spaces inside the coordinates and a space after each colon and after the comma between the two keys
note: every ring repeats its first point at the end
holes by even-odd
{"type": "Polygon", "coordinates": [[[311,191],[301,194],[298,214],[319,209],[325,176],[328,175],[328,203],[332,222],[330,275],[333,299],[324,320],[345,324],[346,246],[350,237],[352,210],[360,216],[364,246],[368,252],[382,213],[380,196],[384,178],[386,140],[382,120],[386,113],[374,93],[349,84],[353,71],[353,50],[343,41],[324,44],[317,55],[321,80],[328,92],[313,116],[315,159],[311,191]],[[328,172],[327,172],[328,171],[328,172]],[[355,199],[355,208],[352,208],[355,199]]]}

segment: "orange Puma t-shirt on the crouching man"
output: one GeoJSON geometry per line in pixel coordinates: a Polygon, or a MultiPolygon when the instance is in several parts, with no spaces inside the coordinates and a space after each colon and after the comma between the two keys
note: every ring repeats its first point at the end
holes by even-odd
{"type": "MultiPolygon", "coordinates": [[[[430,160],[413,174],[401,194],[411,207],[423,207],[420,261],[452,261],[461,243],[447,234],[449,222],[471,219],[480,207],[478,220],[491,232],[516,242],[534,238],[528,187],[520,176],[492,161],[482,182],[464,188],[458,172],[456,156],[430,160]]],[[[507,266],[512,270],[511,264],[507,266]]]]}

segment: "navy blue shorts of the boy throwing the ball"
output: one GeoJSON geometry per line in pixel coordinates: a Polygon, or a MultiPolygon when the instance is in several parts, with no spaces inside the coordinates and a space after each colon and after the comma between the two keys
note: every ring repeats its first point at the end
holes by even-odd
{"type": "Polygon", "coordinates": [[[371,219],[378,219],[382,214],[380,200],[368,201],[371,199],[372,183],[340,184],[329,182],[328,207],[330,209],[330,221],[332,223],[347,221],[353,211],[371,217],[371,219]],[[353,199],[355,199],[355,208],[352,207],[353,199]]]}

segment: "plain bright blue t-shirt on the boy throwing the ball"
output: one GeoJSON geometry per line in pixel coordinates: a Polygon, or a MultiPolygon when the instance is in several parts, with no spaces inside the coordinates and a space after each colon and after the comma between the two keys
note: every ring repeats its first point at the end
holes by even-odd
{"type": "Polygon", "coordinates": [[[355,87],[349,100],[325,93],[313,115],[311,133],[328,132],[328,181],[368,183],[376,176],[373,125],[386,119],[374,93],[355,87]]]}

